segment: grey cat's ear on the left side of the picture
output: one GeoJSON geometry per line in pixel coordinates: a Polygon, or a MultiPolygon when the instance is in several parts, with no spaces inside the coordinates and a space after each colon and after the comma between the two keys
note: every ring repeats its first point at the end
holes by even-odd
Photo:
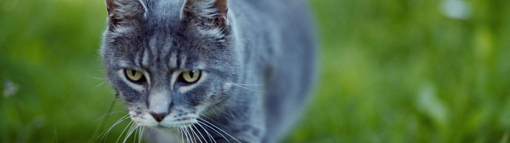
{"type": "Polygon", "coordinates": [[[108,24],[129,26],[145,18],[147,8],[140,0],[106,0],[108,24]]]}

